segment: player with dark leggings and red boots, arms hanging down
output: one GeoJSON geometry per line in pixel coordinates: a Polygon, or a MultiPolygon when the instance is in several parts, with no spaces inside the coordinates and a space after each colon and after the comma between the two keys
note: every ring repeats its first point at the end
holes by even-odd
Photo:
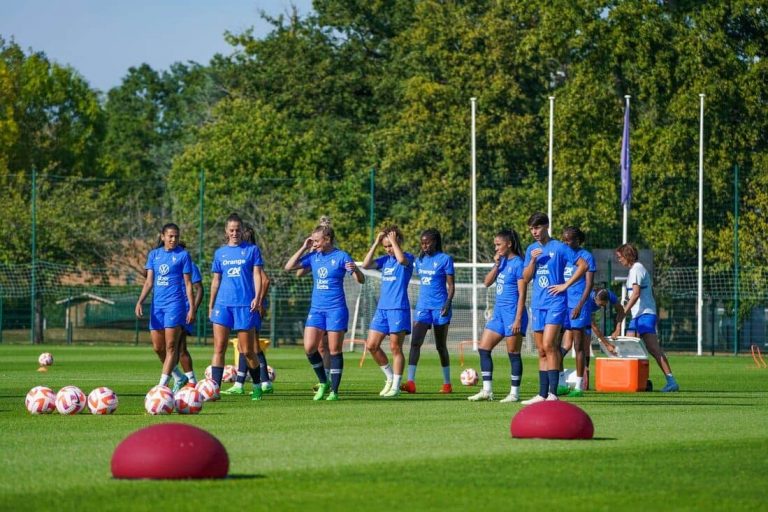
{"type": "Polygon", "coordinates": [[[419,278],[419,299],[416,302],[416,318],[413,319],[411,350],[408,353],[408,380],[400,389],[416,392],[416,366],[421,356],[421,346],[427,331],[435,337],[435,348],[440,356],[443,372],[443,386],[440,393],[453,393],[451,386],[451,362],[448,355],[448,325],[451,323],[453,308],[454,269],[453,258],[443,252],[440,232],[434,228],[421,233],[421,253],[413,263],[419,278]]]}

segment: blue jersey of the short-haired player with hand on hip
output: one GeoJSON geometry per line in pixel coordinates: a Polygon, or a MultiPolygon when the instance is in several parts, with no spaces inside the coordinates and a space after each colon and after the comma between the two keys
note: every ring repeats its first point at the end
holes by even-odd
{"type": "Polygon", "coordinates": [[[536,248],[541,248],[542,253],[536,259],[531,308],[566,309],[566,294],[552,295],[549,293],[548,288],[565,282],[563,272],[568,261],[574,259],[573,249],[563,242],[554,239],[550,239],[544,246],[539,242],[534,242],[525,251],[525,268],[528,268],[528,265],[531,263],[531,251],[536,248]]]}

